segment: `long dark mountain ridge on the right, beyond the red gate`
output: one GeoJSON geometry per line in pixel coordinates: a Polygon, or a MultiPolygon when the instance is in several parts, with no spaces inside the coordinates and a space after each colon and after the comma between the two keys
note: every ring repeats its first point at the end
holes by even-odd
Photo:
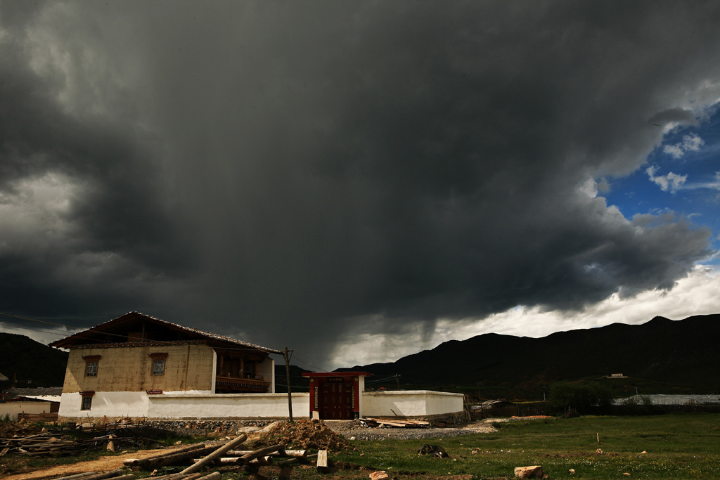
{"type": "Polygon", "coordinates": [[[646,379],[718,393],[719,340],[720,314],[678,321],[655,317],[643,325],[615,323],[544,338],[490,333],[452,340],[392,363],[340,370],[368,371],[375,378],[399,373],[403,379],[436,385],[525,388],[624,373],[629,382],[646,379]]]}

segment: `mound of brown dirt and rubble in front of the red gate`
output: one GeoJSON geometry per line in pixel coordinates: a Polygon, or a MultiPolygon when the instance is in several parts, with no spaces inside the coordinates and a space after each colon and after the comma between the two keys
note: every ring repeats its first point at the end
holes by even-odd
{"type": "Polygon", "coordinates": [[[330,430],[320,420],[301,419],[294,423],[277,422],[254,442],[254,445],[276,445],[282,443],[292,448],[317,450],[352,450],[341,435],[330,430]]]}

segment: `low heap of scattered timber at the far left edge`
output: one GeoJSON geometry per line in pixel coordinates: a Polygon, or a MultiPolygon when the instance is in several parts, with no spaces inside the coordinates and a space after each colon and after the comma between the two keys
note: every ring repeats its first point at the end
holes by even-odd
{"type": "MultiPolygon", "coordinates": [[[[39,433],[28,437],[0,438],[0,456],[7,453],[18,453],[27,456],[45,455],[79,455],[87,450],[107,448],[107,443],[112,440],[116,444],[124,441],[112,438],[111,435],[104,435],[97,438],[73,439],[68,435],[53,435],[53,433],[39,433]]],[[[132,441],[127,439],[128,442],[132,441]]]]}

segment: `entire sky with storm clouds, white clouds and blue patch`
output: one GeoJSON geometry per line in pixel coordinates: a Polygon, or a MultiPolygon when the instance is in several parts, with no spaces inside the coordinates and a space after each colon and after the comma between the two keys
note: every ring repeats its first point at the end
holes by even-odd
{"type": "Polygon", "coordinates": [[[720,312],[719,22],[2,1],[0,312],[137,310],[326,369],[720,312]]]}

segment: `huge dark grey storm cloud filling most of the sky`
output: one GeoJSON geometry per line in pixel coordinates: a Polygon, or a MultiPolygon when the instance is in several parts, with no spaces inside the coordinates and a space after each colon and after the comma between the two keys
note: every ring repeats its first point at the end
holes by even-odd
{"type": "MultiPolygon", "coordinates": [[[[585,192],[644,163],[652,123],[720,96],[717,2],[52,8],[35,16],[60,49],[125,66],[123,108],[90,122],[53,101],[63,78],[11,68],[28,79],[3,122],[24,122],[9,144],[25,150],[2,180],[88,182],[76,248],[152,272],[147,313],[323,345],[364,315],[431,330],[670,288],[708,255],[686,219],[629,221],[585,192]],[[179,281],[174,302],[157,276],[179,281]]],[[[117,305],[112,286],[97,295],[117,305]]]]}

